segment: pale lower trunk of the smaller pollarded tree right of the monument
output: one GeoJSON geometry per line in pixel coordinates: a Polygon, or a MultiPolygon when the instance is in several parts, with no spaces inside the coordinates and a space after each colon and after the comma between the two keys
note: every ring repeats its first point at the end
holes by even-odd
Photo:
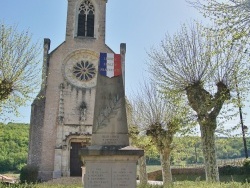
{"type": "Polygon", "coordinates": [[[161,167],[162,167],[162,179],[163,179],[164,186],[172,183],[170,152],[171,152],[170,149],[164,148],[160,153],[161,167]]]}

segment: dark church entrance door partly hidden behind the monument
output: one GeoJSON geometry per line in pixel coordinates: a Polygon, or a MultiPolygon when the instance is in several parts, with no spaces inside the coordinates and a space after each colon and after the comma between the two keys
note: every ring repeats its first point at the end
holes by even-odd
{"type": "Polygon", "coordinates": [[[81,149],[81,143],[71,142],[70,149],[70,176],[82,176],[82,161],[78,151],[81,149]]]}

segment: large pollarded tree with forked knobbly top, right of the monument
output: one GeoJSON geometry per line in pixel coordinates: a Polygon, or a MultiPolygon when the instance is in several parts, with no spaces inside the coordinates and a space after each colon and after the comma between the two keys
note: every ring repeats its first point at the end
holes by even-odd
{"type": "Polygon", "coordinates": [[[243,44],[204,31],[199,24],[166,35],[149,54],[151,73],[165,92],[186,95],[200,125],[207,181],[219,181],[215,152],[217,117],[238,83],[249,79],[243,44]]]}

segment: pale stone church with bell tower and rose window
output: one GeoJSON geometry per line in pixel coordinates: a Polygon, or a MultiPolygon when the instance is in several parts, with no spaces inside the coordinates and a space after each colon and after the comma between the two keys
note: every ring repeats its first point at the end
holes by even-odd
{"type": "Polygon", "coordinates": [[[44,39],[43,83],[32,103],[28,155],[41,180],[81,176],[78,150],[91,142],[99,56],[114,53],[105,44],[106,4],[68,0],[66,40],[50,51],[50,39],[44,39]]]}

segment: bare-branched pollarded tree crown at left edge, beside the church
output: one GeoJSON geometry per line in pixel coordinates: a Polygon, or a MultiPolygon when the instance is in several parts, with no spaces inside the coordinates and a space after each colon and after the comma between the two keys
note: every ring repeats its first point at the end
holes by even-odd
{"type": "Polygon", "coordinates": [[[18,114],[17,108],[26,104],[40,86],[37,44],[31,43],[28,31],[0,25],[0,114],[18,114]]]}

